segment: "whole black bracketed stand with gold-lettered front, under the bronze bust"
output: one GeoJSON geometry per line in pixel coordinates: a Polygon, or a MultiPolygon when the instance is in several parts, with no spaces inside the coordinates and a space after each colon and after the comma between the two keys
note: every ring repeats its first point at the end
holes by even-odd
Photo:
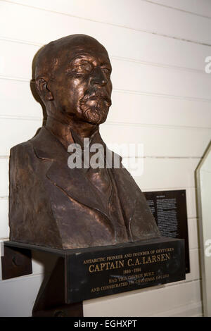
{"type": "MultiPolygon", "coordinates": [[[[185,279],[183,239],[161,237],[67,250],[9,241],[4,246],[5,251],[21,249],[26,256],[37,250],[58,258],[53,272],[41,285],[32,316],[83,316],[83,300],[185,279]]],[[[2,264],[3,279],[8,263],[2,264]]]]}

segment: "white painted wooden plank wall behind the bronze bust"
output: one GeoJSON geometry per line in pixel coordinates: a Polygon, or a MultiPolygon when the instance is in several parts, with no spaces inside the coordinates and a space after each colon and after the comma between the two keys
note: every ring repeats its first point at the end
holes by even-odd
{"type": "MultiPolygon", "coordinates": [[[[85,316],[202,316],[194,170],[210,141],[210,0],[0,1],[0,238],[8,238],[8,155],[41,125],[32,58],[51,40],[96,37],[113,65],[106,142],[144,146],[143,191],[186,189],[191,273],[186,281],[84,301],[85,316]]],[[[30,316],[44,263],[0,280],[0,316],[30,316]]],[[[1,270],[0,270],[1,271],[1,270]]]]}

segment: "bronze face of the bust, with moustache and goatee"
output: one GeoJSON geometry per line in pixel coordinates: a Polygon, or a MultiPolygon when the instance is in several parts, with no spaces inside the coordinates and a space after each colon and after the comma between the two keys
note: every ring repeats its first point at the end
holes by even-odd
{"type": "Polygon", "coordinates": [[[93,39],[66,45],[55,63],[49,89],[56,111],[91,124],[105,122],[112,92],[106,49],[93,39]]]}

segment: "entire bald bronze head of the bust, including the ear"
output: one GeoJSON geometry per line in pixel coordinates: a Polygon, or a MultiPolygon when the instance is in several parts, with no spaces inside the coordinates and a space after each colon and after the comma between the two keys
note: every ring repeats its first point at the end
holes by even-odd
{"type": "Polygon", "coordinates": [[[70,35],[44,46],[37,56],[37,92],[48,115],[98,125],[111,105],[108,53],[93,37],[70,35]]]}

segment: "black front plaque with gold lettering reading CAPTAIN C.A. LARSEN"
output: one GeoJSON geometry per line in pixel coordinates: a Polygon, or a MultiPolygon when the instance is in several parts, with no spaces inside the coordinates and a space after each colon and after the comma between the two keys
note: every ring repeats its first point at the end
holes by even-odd
{"type": "Polygon", "coordinates": [[[158,238],[68,255],[68,303],[185,279],[184,240],[158,238]]]}

